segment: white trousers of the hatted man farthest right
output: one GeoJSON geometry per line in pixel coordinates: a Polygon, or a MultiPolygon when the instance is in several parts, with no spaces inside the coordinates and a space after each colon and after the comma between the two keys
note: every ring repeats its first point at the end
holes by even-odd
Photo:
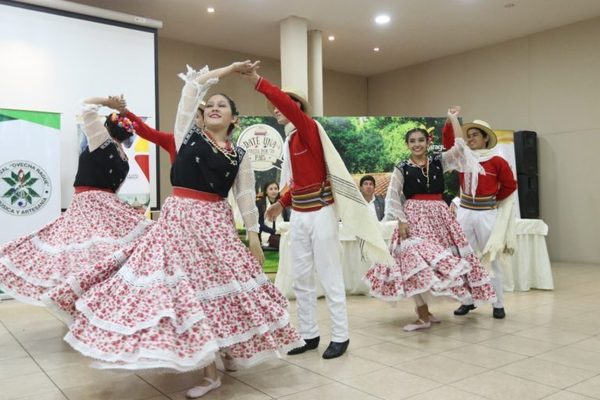
{"type": "MultiPolygon", "coordinates": [[[[494,222],[496,221],[496,213],[496,209],[478,211],[458,207],[456,219],[465,231],[467,241],[475,252],[480,253],[490,238],[492,229],[494,228],[494,222]]],[[[492,286],[494,286],[494,290],[496,291],[497,299],[493,306],[495,308],[503,308],[504,288],[502,283],[502,265],[500,265],[498,260],[492,261],[492,271],[494,272],[492,286]]],[[[473,304],[473,301],[471,300],[465,304],[473,304]]]]}

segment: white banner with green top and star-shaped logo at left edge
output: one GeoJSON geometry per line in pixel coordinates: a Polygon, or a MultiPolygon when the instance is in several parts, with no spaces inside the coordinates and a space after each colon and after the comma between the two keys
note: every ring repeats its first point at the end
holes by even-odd
{"type": "Polygon", "coordinates": [[[0,109],[0,245],[60,215],[60,114],[0,109]]]}

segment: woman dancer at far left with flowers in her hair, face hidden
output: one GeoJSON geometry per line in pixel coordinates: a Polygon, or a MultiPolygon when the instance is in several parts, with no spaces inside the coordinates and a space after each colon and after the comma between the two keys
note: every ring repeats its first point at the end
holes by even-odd
{"type": "Polygon", "coordinates": [[[39,231],[0,247],[0,289],[17,300],[43,305],[45,293],[127,246],[151,225],[115,194],[129,171],[123,146],[133,142],[134,125],[116,113],[100,117],[101,106],[116,109],[119,102],[96,97],[83,103],[87,145],[69,208],[39,231]]]}

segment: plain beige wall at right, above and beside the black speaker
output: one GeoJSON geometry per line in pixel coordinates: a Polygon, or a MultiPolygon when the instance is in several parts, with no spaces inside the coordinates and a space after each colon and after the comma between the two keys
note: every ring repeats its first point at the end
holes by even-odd
{"type": "Polygon", "coordinates": [[[372,76],[369,115],[444,115],[538,132],[555,261],[600,263],[600,18],[372,76]]]}

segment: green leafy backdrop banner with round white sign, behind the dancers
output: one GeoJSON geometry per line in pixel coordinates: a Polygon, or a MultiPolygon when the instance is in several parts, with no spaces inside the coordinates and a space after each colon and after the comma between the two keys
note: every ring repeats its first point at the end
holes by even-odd
{"type": "MultiPolygon", "coordinates": [[[[374,175],[378,192],[385,195],[387,176],[394,166],[409,156],[404,134],[409,129],[425,126],[432,129],[434,145],[430,150],[441,150],[441,132],[446,118],[435,117],[318,117],[348,171],[360,179],[374,175]],[[381,177],[381,184],[379,178],[381,177]]],[[[279,182],[283,159],[285,133],[273,117],[243,117],[241,130],[234,137],[237,145],[246,150],[252,160],[256,177],[257,195],[264,184],[279,182]]],[[[447,190],[455,193],[458,183],[451,175],[446,179],[447,190]]]]}

